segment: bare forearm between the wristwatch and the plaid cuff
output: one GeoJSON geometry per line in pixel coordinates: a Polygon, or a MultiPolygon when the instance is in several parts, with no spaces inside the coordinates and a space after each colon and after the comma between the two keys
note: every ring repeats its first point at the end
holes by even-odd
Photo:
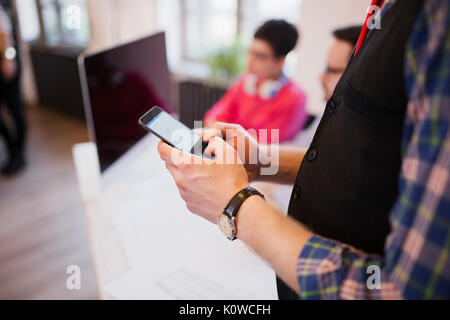
{"type": "Polygon", "coordinates": [[[277,212],[258,196],[252,196],[242,204],[237,219],[237,237],[269,263],[285,283],[299,292],[297,260],[313,233],[277,212]]]}

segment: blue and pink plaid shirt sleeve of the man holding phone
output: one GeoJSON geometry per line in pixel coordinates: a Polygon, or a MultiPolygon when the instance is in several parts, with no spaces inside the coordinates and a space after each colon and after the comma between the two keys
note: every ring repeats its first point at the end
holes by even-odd
{"type": "Polygon", "coordinates": [[[427,0],[406,53],[400,193],[384,255],[311,237],[297,263],[300,299],[450,298],[449,30],[449,1],[427,0]]]}

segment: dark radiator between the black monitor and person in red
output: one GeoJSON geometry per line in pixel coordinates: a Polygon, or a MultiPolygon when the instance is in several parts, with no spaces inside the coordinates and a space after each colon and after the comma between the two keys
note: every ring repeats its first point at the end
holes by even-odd
{"type": "Polygon", "coordinates": [[[200,81],[184,80],[178,83],[180,121],[189,128],[201,121],[208,111],[225,94],[226,88],[200,81]]]}

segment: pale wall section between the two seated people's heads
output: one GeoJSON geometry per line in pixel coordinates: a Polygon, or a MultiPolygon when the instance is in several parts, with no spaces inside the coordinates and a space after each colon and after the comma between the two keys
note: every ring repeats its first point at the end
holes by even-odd
{"type": "Polygon", "coordinates": [[[303,0],[299,28],[298,73],[295,79],[308,93],[308,110],[321,114],[325,107],[319,77],[325,64],[332,31],[338,27],[363,24],[369,0],[303,0]]]}

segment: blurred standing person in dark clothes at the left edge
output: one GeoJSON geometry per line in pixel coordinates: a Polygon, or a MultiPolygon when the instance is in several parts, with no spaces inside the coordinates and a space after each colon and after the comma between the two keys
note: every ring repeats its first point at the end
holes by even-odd
{"type": "Polygon", "coordinates": [[[14,124],[10,130],[0,114],[0,135],[6,143],[8,160],[1,173],[13,175],[25,167],[26,124],[20,95],[20,64],[15,36],[7,10],[0,4],[0,110],[5,105],[14,124]]]}

